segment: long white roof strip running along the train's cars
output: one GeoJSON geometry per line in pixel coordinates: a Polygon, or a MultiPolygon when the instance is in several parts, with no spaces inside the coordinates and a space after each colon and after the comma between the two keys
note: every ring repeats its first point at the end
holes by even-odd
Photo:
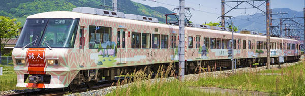
{"type": "MultiPolygon", "coordinates": [[[[166,28],[171,27],[171,28],[174,28],[174,29],[179,28],[178,26],[175,26],[175,25],[166,25],[166,24],[161,24],[161,23],[145,22],[145,21],[139,21],[139,20],[126,19],[126,18],[109,17],[109,16],[102,16],[102,15],[71,12],[71,11],[51,11],[51,12],[37,13],[37,14],[28,16],[27,19],[38,19],[38,18],[92,18],[92,17],[104,18],[105,20],[111,20],[111,21],[114,21],[114,22],[125,22],[125,23],[133,22],[133,23],[137,23],[137,24],[141,24],[141,25],[149,25],[149,26],[155,26],[155,27],[166,27],[166,28]]],[[[186,29],[187,30],[194,30],[194,31],[208,31],[210,33],[219,33],[219,34],[231,34],[230,31],[223,31],[223,30],[203,29],[203,28],[195,28],[195,27],[186,27],[186,29]]],[[[234,35],[262,37],[262,38],[266,37],[266,36],[261,36],[261,35],[242,34],[242,33],[234,33],[234,35]]],[[[297,41],[297,40],[293,40],[293,39],[278,38],[278,37],[270,37],[270,39],[284,39],[284,40],[297,41]]]]}

